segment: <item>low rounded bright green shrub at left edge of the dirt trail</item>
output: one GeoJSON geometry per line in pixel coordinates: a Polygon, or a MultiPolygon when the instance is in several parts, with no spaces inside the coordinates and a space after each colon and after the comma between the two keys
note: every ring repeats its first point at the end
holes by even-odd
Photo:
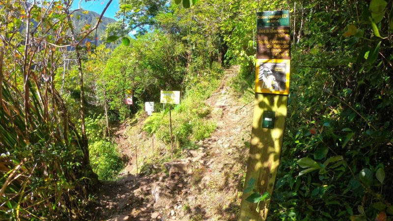
{"type": "Polygon", "coordinates": [[[90,144],[90,163],[101,180],[112,180],[123,168],[116,144],[98,140],[90,144]]]}

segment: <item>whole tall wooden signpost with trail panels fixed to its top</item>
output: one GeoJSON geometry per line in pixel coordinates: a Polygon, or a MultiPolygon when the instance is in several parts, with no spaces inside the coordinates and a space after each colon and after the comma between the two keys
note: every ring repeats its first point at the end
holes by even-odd
{"type": "Polygon", "coordinates": [[[257,50],[251,147],[238,221],[266,220],[280,164],[290,74],[289,11],[256,13],[257,50]]]}

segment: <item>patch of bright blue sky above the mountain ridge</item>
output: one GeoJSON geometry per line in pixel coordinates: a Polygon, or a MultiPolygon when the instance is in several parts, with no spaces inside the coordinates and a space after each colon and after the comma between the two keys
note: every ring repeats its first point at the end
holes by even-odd
{"type": "MultiPolygon", "coordinates": [[[[108,2],[109,0],[89,0],[89,1],[82,0],[81,7],[84,10],[94,11],[97,12],[98,14],[101,14],[108,2]]],[[[79,4],[79,0],[74,0],[71,9],[77,9],[78,4],[79,4]]],[[[104,16],[117,20],[114,17],[114,15],[118,10],[119,10],[119,1],[113,0],[111,5],[109,5],[107,11],[105,12],[104,16]]]]}

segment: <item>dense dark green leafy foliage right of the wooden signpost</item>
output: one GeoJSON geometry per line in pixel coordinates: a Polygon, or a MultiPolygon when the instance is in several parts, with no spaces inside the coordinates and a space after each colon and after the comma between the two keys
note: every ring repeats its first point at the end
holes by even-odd
{"type": "Polygon", "coordinates": [[[386,220],[393,214],[393,180],[385,176],[393,159],[393,2],[299,3],[270,219],[386,220]]]}

